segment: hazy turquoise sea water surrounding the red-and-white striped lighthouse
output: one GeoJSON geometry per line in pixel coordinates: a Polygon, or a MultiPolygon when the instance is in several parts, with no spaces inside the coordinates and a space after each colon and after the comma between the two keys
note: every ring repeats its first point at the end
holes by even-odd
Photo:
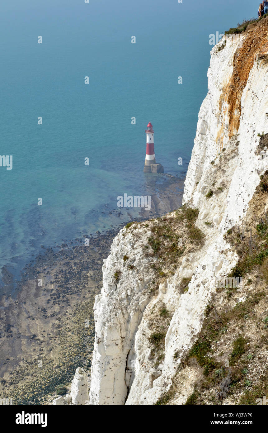
{"type": "Polygon", "coordinates": [[[0,167],[0,267],[106,230],[101,212],[118,195],[148,194],[149,121],[157,161],[185,176],[207,93],[209,34],[255,9],[245,1],[233,10],[230,0],[220,9],[208,0],[2,1],[0,154],[13,155],[13,168],[0,167]]]}

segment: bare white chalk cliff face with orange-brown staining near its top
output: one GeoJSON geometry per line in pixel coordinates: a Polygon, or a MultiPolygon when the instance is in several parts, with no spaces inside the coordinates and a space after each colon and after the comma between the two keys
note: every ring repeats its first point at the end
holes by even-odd
{"type": "Polygon", "coordinates": [[[198,115],[183,197],[184,204],[199,210],[196,226],[205,234],[203,245],[184,252],[152,293],[158,258],[145,254],[152,222],[124,228],[113,241],[94,306],[90,404],[154,404],[168,391],[182,356],[197,339],[215,278],[236,264],[223,235],[242,222],[268,168],[267,148],[256,150],[258,133],[268,130],[268,26],[263,21],[248,26],[242,45],[241,38],[228,39],[211,51],[208,94],[198,115]],[[181,293],[183,278],[191,281],[181,293]],[[159,305],[171,320],[163,356],[155,362],[150,321],[159,305]]]}

